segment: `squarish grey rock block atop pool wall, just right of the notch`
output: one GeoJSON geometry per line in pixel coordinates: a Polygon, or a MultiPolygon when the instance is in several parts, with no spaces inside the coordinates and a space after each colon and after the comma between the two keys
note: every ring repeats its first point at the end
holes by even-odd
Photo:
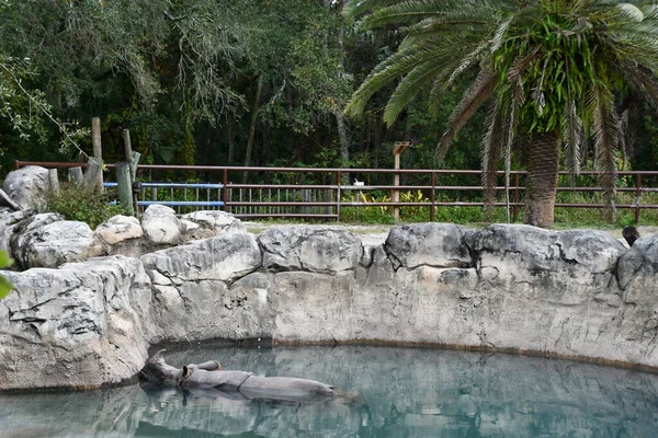
{"type": "Polygon", "coordinates": [[[465,229],[452,223],[413,223],[395,227],[384,247],[395,267],[470,267],[473,261],[464,245],[465,229]]]}

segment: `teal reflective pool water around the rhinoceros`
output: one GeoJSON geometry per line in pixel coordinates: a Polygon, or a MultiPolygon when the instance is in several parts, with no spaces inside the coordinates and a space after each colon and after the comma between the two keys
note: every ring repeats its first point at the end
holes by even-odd
{"type": "Polygon", "coordinates": [[[334,384],[320,403],[228,400],[139,385],[0,396],[8,437],[655,437],[658,376],[439,349],[198,348],[177,366],[334,384]]]}

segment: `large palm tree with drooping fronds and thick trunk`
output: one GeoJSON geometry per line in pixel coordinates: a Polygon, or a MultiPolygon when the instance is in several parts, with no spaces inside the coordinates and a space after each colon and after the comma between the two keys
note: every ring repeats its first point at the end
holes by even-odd
{"type": "Polygon", "coordinates": [[[591,138],[613,211],[616,102],[635,92],[658,106],[658,1],[351,0],[347,13],[361,19],[361,28],[397,26],[405,35],[353,94],[347,113],[361,114],[377,90],[397,81],[384,113],[392,124],[419,92],[438,107],[455,80],[476,70],[438,153],[487,104],[485,201],[495,200],[498,162],[504,158],[509,172],[512,147],[525,143],[524,220],[551,227],[560,151],[577,174],[591,138]]]}

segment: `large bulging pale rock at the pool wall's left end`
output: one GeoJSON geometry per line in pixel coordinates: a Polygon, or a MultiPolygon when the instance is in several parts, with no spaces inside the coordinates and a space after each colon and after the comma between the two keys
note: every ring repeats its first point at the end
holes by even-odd
{"type": "Polygon", "coordinates": [[[90,388],[133,378],[147,358],[150,283],[122,256],[3,272],[0,389],[90,388]]]}

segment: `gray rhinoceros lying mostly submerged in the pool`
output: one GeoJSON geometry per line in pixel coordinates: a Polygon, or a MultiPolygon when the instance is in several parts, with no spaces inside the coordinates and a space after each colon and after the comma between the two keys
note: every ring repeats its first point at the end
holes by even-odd
{"type": "Polygon", "coordinates": [[[164,361],[163,351],[158,351],[147,360],[139,371],[141,379],[159,385],[182,388],[196,395],[227,399],[305,402],[336,395],[333,387],[315,380],[224,371],[215,360],[200,365],[190,364],[179,369],[164,361]]]}

